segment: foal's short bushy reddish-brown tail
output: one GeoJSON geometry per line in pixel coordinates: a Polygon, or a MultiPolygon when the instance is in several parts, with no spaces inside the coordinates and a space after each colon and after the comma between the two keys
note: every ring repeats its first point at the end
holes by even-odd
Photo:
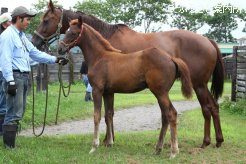
{"type": "Polygon", "coordinates": [[[178,77],[180,77],[181,84],[182,84],[182,94],[186,98],[192,97],[192,82],[190,78],[190,71],[188,66],[182,59],[179,58],[172,58],[176,67],[178,68],[178,77]]]}

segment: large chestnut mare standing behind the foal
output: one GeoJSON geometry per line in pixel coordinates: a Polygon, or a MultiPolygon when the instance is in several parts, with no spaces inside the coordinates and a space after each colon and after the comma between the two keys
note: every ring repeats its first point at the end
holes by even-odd
{"type": "Polygon", "coordinates": [[[201,147],[211,142],[210,126],[213,118],[216,146],[220,147],[224,141],[220,125],[218,98],[222,95],[224,85],[224,66],[220,50],[216,43],[208,38],[190,31],[175,30],[157,33],[138,33],[122,24],[107,24],[94,16],[82,12],[73,12],[55,8],[52,1],[37,28],[32,41],[40,48],[56,34],[65,33],[69,27],[69,18],[82,17],[87,23],[106,38],[113,47],[123,53],[157,47],[171,56],[181,58],[189,67],[193,89],[201,104],[204,122],[204,138],[201,147]],[[60,24],[60,25],[59,25],[60,24]],[[211,93],[208,81],[212,77],[211,93]]]}

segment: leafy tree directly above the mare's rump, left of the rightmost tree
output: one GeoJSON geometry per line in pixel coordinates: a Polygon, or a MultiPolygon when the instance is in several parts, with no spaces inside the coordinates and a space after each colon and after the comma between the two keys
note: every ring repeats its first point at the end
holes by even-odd
{"type": "Polygon", "coordinates": [[[171,15],[173,19],[171,27],[196,32],[204,25],[207,14],[205,10],[197,13],[182,6],[175,7],[171,15]]]}

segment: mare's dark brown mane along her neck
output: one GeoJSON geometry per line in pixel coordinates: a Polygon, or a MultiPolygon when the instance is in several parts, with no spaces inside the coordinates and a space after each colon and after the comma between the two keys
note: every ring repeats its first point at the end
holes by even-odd
{"type": "Polygon", "coordinates": [[[120,30],[121,27],[129,28],[125,24],[108,24],[93,15],[81,11],[77,11],[76,13],[82,17],[83,22],[93,27],[106,39],[109,39],[117,30],[120,30]]]}

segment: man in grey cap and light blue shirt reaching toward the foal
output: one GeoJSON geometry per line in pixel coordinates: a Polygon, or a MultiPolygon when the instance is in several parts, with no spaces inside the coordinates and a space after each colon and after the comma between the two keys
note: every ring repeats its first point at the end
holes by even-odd
{"type": "Polygon", "coordinates": [[[7,111],[3,123],[3,143],[5,148],[15,148],[16,132],[22,120],[27,98],[30,72],[29,57],[40,63],[67,64],[63,57],[51,56],[39,51],[23,32],[36,14],[23,6],[12,12],[12,25],[0,36],[0,67],[5,79],[7,111]]]}

